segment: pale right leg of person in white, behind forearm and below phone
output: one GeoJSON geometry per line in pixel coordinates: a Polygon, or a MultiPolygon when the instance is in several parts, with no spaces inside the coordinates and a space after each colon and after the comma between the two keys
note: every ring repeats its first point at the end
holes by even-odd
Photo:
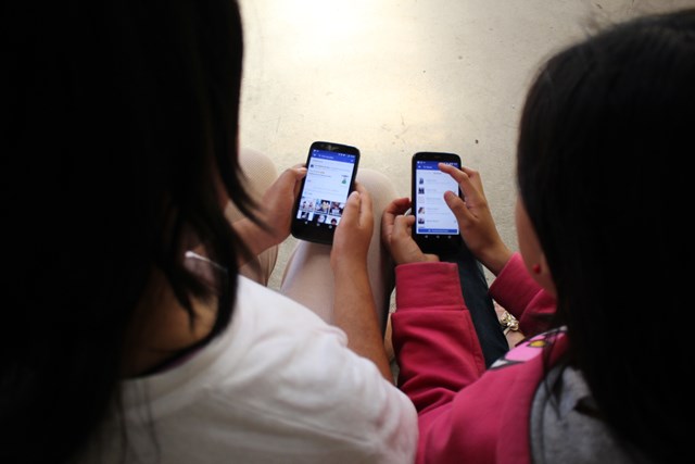
{"type": "MultiPolygon", "coordinates": [[[[374,203],[375,227],[367,262],[375,305],[383,331],[393,274],[391,258],[381,246],[381,213],[397,193],[391,180],[376,171],[359,170],[357,181],[369,191],[374,203]]],[[[329,324],[332,323],[333,275],[330,268],[330,246],[299,240],[285,268],[280,292],[309,308],[329,324]]]]}

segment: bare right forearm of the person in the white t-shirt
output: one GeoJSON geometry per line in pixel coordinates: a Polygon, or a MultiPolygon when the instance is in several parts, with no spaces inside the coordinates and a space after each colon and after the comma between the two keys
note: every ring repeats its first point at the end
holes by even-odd
{"type": "Polygon", "coordinates": [[[336,267],[334,324],[348,335],[348,347],[371,360],[381,375],[393,383],[366,263],[343,262],[336,267]]]}

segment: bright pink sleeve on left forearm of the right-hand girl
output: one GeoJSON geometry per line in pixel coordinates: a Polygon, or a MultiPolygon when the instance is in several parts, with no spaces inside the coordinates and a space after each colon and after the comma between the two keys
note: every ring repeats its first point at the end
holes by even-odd
{"type": "Polygon", "coordinates": [[[485,371],[456,265],[397,266],[392,324],[399,386],[418,411],[422,443],[432,438],[437,418],[451,411],[456,393],[485,371]]]}

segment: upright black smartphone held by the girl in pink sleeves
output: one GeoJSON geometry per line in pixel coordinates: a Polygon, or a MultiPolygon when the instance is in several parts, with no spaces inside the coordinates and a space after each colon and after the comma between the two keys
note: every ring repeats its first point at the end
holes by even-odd
{"type": "Polygon", "coordinates": [[[439,170],[439,163],[460,168],[460,156],[440,152],[413,155],[413,238],[424,252],[434,254],[453,251],[463,242],[456,216],[444,201],[445,191],[460,196],[460,190],[452,176],[439,170]]]}

